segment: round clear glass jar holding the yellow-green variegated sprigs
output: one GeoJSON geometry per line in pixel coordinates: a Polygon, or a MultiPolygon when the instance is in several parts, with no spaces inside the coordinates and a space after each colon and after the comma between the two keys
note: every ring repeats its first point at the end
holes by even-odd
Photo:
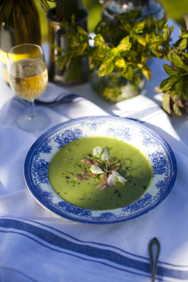
{"type": "Polygon", "coordinates": [[[110,74],[98,76],[99,67],[90,71],[89,82],[95,93],[113,103],[135,97],[145,87],[145,78],[138,68],[133,69],[132,81],[124,78],[118,69],[110,74]]]}

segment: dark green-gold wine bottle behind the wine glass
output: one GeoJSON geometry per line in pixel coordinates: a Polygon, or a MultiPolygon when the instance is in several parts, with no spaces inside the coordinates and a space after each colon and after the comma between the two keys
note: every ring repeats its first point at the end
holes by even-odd
{"type": "Polygon", "coordinates": [[[41,45],[38,12],[33,0],[0,0],[0,53],[4,79],[8,74],[6,58],[9,50],[20,44],[41,45]]]}

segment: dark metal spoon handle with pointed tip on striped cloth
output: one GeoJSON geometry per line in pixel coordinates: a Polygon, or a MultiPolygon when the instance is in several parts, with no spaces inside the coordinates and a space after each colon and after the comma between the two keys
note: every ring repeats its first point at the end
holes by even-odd
{"type": "Polygon", "coordinates": [[[152,274],[152,282],[155,281],[155,275],[157,273],[157,261],[160,252],[160,244],[156,237],[151,239],[149,243],[149,255],[150,255],[150,266],[152,274]]]}

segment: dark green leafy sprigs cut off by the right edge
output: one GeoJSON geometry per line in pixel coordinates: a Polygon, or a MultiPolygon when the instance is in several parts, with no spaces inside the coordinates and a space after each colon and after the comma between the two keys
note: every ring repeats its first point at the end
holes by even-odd
{"type": "Polygon", "coordinates": [[[164,64],[164,70],[169,75],[161,82],[157,92],[163,92],[162,108],[170,115],[188,114],[188,15],[183,14],[186,30],[180,27],[180,37],[168,49],[164,49],[165,56],[172,66],[164,64]]]}

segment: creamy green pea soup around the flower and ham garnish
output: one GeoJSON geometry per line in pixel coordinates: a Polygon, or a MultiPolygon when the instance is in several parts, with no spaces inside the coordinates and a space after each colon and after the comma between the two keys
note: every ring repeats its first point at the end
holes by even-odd
{"type": "MultiPolygon", "coordinates": [[[[113,167],[113,165],[112,165],[113,167]]],[[[145,193],[152,179],[152,167],[147,157],[134,146],[110,137],[83,137],[64,145],[53,156],[48,167],[48,179],[53,190],[65,201],[77,207],[90,210],[109,210],[124,207],[145,193]],[[127,179],[122,183],[98,189],[104,182],[83,175],[92,162],[93,148],[107,147],[111,164],[120,164],[118,172],[127,179]],[[77,165],[75,165],[77,164],[77,165]],[[84,178],[75,179],[74,174],[84,178]],[[96,183],[97,182],[97,183],[96,183]]]]}

